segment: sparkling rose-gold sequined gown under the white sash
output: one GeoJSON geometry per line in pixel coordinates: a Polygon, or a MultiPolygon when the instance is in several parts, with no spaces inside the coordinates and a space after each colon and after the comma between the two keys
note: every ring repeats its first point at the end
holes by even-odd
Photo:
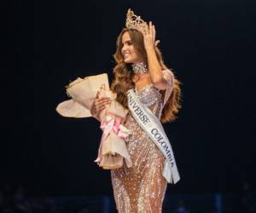
{"type": "MultiPolygon", "coordinates": [[[[155,89],[149,84],[136,91],[139,100],[157,118],[172,93],[173,79],[166,91],[155,89]]],[[[131,156],[132,167],[126,165],[119,170],[111,170],[113,195],[119,213],[160,213],[166,193],[166,179],[162,176],[165,158],[159,148],[146,135],[137,121],[128,113],[125,127],[131,135],[125,139],[131,156]]]]}

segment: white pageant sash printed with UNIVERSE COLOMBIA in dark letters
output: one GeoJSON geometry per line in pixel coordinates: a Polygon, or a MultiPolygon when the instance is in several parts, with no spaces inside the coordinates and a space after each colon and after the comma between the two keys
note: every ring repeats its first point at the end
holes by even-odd
{"type": "Polygon", "coordinates": [[[177,183],[180,179],[177,164],[172,152],[171,143],[166,136],[162,124],[160,124],[159,119],[155,117],[154,113],[148,107],[143,106],[142,102],[138,100],[133,89],[128,90],[127,96],[128,107],[133,117],[166,157],[163,176],[167,182],[177,183]]]}

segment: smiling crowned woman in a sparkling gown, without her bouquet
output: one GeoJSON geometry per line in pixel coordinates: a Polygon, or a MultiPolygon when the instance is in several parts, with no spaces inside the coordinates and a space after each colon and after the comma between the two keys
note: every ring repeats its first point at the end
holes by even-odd
{"type": "MultiPolygon", "coordinates": [[[[114,54],[117,65],[113,69],[114,81],[111,85],[117,93],[117,101],[130,109],[124,125],[131,130],[125,143],[133,165],[128,168],[124,164],[121,169],[111,170],[114,199],[122,213],[161,212],[166,193],[167,181],[162,175],[166,158],[159,147],[166,146],[166,141],[160,141],[165,134],[162,137],[159,135],[158,131],[163,130],[158,122],[165,123],[176,118],[175,114],[181,107],[181,92],[180,83],[161,58],[158,43],[152,22],[147,24],[129,9],[126,28],[117,39],[114,54]],[[137,102],[132,101],[132,94],[136,95],[133,98],[137,102]],[[155,138],[143,125],[148,118],[152,118],[151,123],[157,124],[158,129],[151,130],[155,138]]],[[[91,114],[97,118],[108,103],[108,98],[96,97],[91,114]]]]}

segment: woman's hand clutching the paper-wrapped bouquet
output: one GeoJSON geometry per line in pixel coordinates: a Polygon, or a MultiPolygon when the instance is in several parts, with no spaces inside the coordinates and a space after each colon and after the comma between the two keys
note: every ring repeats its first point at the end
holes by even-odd
{"type": "Polygon", "coordinates": [[[90,113],[93,118],[96,118],[98,121],[101,121],[99,118],[100,112],[106,108],[107,104],[110,104],[110,98],[102,97],[99,98],[99,91],[97,92],[96,98],[90,108],[90,113]]]}

